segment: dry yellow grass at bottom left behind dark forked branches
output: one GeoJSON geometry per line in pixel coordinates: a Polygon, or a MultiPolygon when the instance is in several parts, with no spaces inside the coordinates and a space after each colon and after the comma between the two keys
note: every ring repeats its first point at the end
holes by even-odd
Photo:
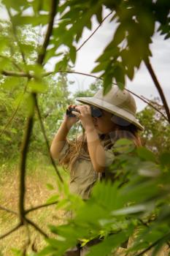
{"type": "MultiPolygon", "coordinates": [[[[18,211],[19,198],[19,173],[18,167],[11,170],[4,165],[0,167],[0,205],[18,211]]],[[[50,195],[57,193],[56,175],[53,168],[48,165],[29,167],[26,176],[26,208],[37,206],[46,202],[50,195]],[[53,184],[54,190],[47,189],[47,183],[53,184]]],[[[63,222],[63,211],[57,211],[55,206],[41,208],[28,214],[28,217],[35,222],[45,233],[50,234],[48,224],[58,225],[63,222]]],[[[18,217],[0,210],[0,235],[6,233],[18,223],[18,217]]],[[[17,231],[0,240],[0,255],[13,255],[12,248],[23,249],[28,243],[28,234],[31,238],[31,249],[39,250],[45,246],[44,238],[33,227],[20,227],[17,231]]]]}

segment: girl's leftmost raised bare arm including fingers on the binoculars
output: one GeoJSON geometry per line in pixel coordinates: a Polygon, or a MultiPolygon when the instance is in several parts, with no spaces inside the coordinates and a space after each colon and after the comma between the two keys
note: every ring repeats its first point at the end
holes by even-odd
{"type": "MultiPolygon", "coordinates": [[[[69,105],[69,108],[74,108],[74,105],[69,105]]],[[[72,125],[76,122],[77,117],[64,116],[61,127],[58,129],[58,132],[56,133],[50,146],[50,154],[53,159],[58,159],[60,152],[66,143],[66,136],[68,135],[72,125]]]]}

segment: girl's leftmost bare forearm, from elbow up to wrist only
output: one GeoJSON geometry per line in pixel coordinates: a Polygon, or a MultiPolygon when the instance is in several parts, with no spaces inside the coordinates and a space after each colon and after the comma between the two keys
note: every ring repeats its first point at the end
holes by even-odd
{"type": "Polygon", "coordinates": [[[66,124],[66,121],[63,121],[61,127],[58,129],[50,146],[50,153],[54,159],[58,159],[58,156],[66,143],[66,136],[68,135],[70,128],[71,127],[66,124]]]}

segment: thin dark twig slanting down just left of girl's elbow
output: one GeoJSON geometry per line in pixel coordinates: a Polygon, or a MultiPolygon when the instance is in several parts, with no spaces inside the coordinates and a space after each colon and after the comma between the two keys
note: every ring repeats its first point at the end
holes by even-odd
{"type": "MultiPolygon", "coordinates": [[[[35,104],[36,104],[36,111],[37,111],[38,117],[39,117],[39,122],[40,122],[40,125],[41,125],[41,128],[42,128],[42,134],[43,134],[43,136],[44,136],[44,138],[45,138],[45,142],[46,142],[46,145],[47,145],[47,149],[48,149],[48,152],[49,152],[49,154],[50,154],[50,145],[49,145],[49,142],[48,142],[48,139],[47,139],[47,135],[46,135],[46,133],[45,133],[45,127],[44,127],[44,124],[43,124],[43,122],[42,122],[42,116],[41,116],[41,113],[40,113],[40,111],[39,111],[39,105],[38,105],[37,99],[36,99],[35,104]]],[[[51,160],[51,162],[52,162],[53,167],[55,168],[55,172],[57,173],[58,178],[60,179],[61,182],[63,182],[63,178],[61,178],[61,174],[59,173],[58,168],[56,167],[55,162],[54,162],[54,159],[53,159],[53,157],[51,156],[51,154],[50,154],[50,160],[51,160]]]]}

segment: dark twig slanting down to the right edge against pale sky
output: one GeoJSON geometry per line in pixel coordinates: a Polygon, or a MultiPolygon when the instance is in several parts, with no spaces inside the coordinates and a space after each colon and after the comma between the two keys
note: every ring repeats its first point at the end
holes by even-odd
{"type": "Polygon", "coordinates": [[[169,121],[169,124],[170,124],[169,105],[168,105],[168,103],[166,102],[166,97],[165,97],[165,95],[163,94],[163,90],[162,90],[162,88],[161,88],[161,85],[160,85],[160,83],[158,82],[158,79],[157,79],[157,77],[156,77],[156,75],[155,75],[155,72],[154,72],[153,69],[152,69],[152,66],[151,66],[151,64],[150,64],[150,61],[144,61],[144,64],[146,65],[147,70],[148,70],[148,72],[150,73],[151,78],[152,78],[153,82],[155,83],[155,87],[156,87],[156,89],[158,90],[158,93],[159,93],[159,95],[160,95],[160,97],[161,97],[161,99],[162,99],[163,106],[164,106],[164,108],[165,108],[165,110],[166,110],[166,115],[167,115],[167,117],[168,117],[168,121],[169,121]]]}

